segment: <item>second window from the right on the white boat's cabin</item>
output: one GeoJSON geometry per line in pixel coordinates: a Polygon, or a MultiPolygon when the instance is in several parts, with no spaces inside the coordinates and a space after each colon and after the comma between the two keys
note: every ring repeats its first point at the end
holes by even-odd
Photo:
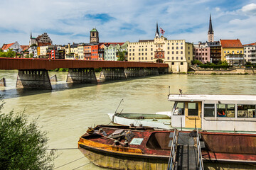
{"type": "Polygon", "coordinates": [[[217,104],[217,117],[235,118],[235,105],[217,104]]]}

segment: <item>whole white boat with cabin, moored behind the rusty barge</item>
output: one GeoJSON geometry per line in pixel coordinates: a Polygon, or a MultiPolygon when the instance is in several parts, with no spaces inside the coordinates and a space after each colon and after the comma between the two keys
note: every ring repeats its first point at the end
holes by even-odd
{"type": "Polygon", "coordinates": [[[170,112],[156,114],[109,113],[112,123],[206,131],[256,133],[256,96],[169,94],[170,112]],[[157,117],[159,116],[159,117],[157,117]]]}

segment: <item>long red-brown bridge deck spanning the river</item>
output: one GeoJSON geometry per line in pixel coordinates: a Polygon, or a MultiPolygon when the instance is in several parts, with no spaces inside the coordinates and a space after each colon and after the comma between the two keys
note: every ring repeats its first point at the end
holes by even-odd
{"type": "Polygon", "coordinates": [[[0,69],[57,69],[57,68],[168,68],[168,64],[153,62],[116,62],[93,60],[49,60],[0,58],[0,69]]]}

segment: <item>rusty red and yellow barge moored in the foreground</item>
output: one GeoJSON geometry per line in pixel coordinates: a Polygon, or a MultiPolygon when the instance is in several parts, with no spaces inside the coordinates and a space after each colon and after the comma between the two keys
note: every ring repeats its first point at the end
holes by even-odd
{"type": "Polygon", "coordinates": [[[167,169],[170,160],[178,169],[186,162],[187,169],[198,169],[200,160],[208,169],[256,166],[255,134],[98,125],[80,137],[78,148],[93,164],[109,169],[167,169]]]}

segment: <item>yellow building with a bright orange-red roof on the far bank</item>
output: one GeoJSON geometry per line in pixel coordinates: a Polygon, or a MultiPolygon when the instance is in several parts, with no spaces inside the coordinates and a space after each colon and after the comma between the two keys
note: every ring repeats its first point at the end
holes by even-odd
{"type": "Polygon", "coordinates": [[[220,40],[221,61],[228,62],[229,65],[244,65],[244,48],[240,40],[220,40]]]}

